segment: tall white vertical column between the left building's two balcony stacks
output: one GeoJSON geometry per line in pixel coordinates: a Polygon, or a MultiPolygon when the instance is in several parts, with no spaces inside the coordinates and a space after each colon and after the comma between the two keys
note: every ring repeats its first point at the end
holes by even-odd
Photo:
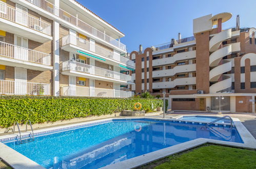
{"type": "MultiPolygon", "coordinates": [[[[60,7],[60,1],[54,0],[54,6],[60,7]]],[[[60,95],[60,24],[53,21],[53,96],[60,95]]]]}

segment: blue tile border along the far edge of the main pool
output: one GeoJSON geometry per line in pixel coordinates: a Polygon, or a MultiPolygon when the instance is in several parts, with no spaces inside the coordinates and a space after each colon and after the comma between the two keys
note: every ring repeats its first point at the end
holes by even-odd
{"type": "MultiPolygon", "coordinates": [[[[112,122],[112,121],[136,121],[136,120],[137,121],[140,121],[140,120],[151,121],[151,122],[161,121],[161,122],[172,122],[172,123],[193,124],[193,125],[203,125],[203,126],[207,124],[207,122],[192,122],[192,121],[183,121],[183,120],[179,120],[179,119],[157,119],[157,118],[144,118],[144,117],[143,118],[120,118],[120,119],[108,119],[108,120],[97,121],[97,122],[89,122],[86,124],[72,125],[72,126],[67,126],[64,128],[58,128],[58,129],[42,131],[42,132],[34,132],[34,137],[53,134],[53,133],[57,133],[57,132],[64,132],[64,131],[73,130],[73,129],[84,128],[87,126],[93,126],[93,125],[108,123],[108,122],[112,122]]],[[[230,125],[228,125],[228,124],[211,124],[210,126],[230,127],[230,125]]],[[[235,128],[234,125],[233,125],[233,127],[235,128]]],[[[31,136],[31,134],[29,133],[26,135],[22,135],[22,138],[29,138],[30,136],[31,136]]],[[[9,137],[9,138],[2,138],[2,139],[0,139],[0,142],[4,143],[4,142],[16,141],[16,140],[18,140],[18,137],[19,136],[17,135],[17,136],[13,136],[13,137],[9,137]]]]}

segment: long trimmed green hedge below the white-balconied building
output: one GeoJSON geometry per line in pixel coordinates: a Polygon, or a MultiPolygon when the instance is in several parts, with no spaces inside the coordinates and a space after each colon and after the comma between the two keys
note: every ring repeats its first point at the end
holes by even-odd
{"type": "Polygon", "coordinates": [[[9,127],[30,119],[32,123],[54,122],[75,117],[100,116],[133,110],[135,102],[142,109],[163,107],[161,99],[143,98],[90,98],[52,96],[0,96],[0,126],[9,127]]]}

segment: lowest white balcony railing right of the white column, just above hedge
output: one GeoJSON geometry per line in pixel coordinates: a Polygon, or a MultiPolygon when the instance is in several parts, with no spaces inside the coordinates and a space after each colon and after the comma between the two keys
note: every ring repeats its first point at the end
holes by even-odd
{"type": "Polygon", "coordinates": [[[133,92],[103,88],[66,86],[62,87],[62,96],[90,96],[90,97],[132,97],[133,92]]]}

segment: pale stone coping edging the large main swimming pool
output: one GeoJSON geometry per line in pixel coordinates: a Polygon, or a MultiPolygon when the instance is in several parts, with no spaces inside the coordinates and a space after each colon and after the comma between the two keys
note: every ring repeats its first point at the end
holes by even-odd
{"type": "MultiPolygon", "coordinates": [[[[63,126],[56,126],[54,128],[47,128],[47,129],[41,129],[41,130],[36,130],[36,133],[40,132],[45,132],[45,131],[52,131],[55,129],[64,129],[64,128],[69,128],[68,130],[72,129],[77,129],[77,128],[83,128],[88,124],[88,126],[91,125],[96,125],[104,122],[110,122],[114,119],[157,119],[157,120],[167,120],[167,121],[181,121],[176,118],[160,118],[160,117],[124,117],[124,118],[107,118],[107,119],[99,119],[99,120],[92,120],[92,121],[86,121],[82,123],[75,123],[75,124],[68,124],[68,125],[63,125],[63,126]],[[93,124],[95,123],[95,124],[93,124]],[[72,126],[79,126],[79,125],[84,125],[81,127],[77,128],[72,128],[72,126]]],[[[219,141],[219,140],[213,140],[213,139],[206,139],[206,138],[198,138],[194,140],[190,140],[184,143],[180,143],[177,145],[173,145],[170,147],[167,147],[162,150],[154,151],[151,153],[147,153],[141,156],[137,156],[131,159],[127,159],[121,162],[117,162],[114,164],[106,165],[103,168],[133,168],[133,167],[138,167],[144,164],[147,164],[149,162],[164,158],[166,156],[170,156],[172,154],[180,153],[189,149],[192,149],[193,147],[200,146],[205,143],[213,143],[213,144],[220,144],[220,145],[228,145],[228,146],[235,146],[235,147],[242,147],[246,149],[256,149],[256,140],[254,137],[251,135],[251,133],[245,128],[243,123],[238,119],[238,118],[232,118],[234,125],[236,129],[238,130],[238,133],[240,137],[242,138],[244,143],[235,143],[235,142],[228,142],[228,141],[219,141]],[[127,167],[126,167],[127,166],[127,167]]],[[[62,130],[59,132],[64,132],[67,130],[62,130]]],[[[34,133],[35,133],[34,132],[34,133]]],[[[23,132],[23,135],[27,135],[30,132],[23,132]]],[[[57,132],[54,132],[57,133],[57,132]]],[[[49,133],[52,134],[52,133],[49,133]]],[[[0,139],[3,137],[14,137],[17,134],[11,134],[11,135],[5,135],[1,136],[0,139]]],[[[43,134],[47,135],[47,134],[43,134]]],[[[40,135],[38,135],[40,136],[40,135]]],[[[16,152],[15,150],[11,149],[9,146],[5,145],[3,142],[0,142],[0,149],[3,150],[0,152],[0,158],[2,158],[8,165],[10,165],[13,168],[44,168],[40,164],[36,163],[35,161],[29,159],[28,157],[16,152]],[[4,153],[3,153],[4,152],[4,153]],[[11,153],[11,156],[8,154],[11,153]],[[19,163],[17,163],[17,161],[19,163]],[[28,166],[27,166],[28,165],[28,166]]]]}

